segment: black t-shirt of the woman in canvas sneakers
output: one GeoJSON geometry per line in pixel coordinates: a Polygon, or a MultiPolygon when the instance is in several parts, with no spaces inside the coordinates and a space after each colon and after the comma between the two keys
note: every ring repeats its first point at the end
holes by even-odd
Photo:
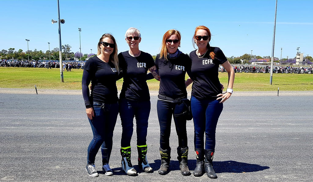
{"type": "Polygon", "coordinates": [[[116,88],[118,72],[111,61],[106,63],[94,56],[86,62],[84,70],[88,71],[91,78],[91,101],[108,104],[118,101],[116,88]]]}

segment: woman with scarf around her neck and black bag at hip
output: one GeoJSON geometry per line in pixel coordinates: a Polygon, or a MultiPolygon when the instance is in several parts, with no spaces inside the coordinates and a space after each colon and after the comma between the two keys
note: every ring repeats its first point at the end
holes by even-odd
{"type": "Polygon", "coordinates": [[[185,85],[186,72],[190,73],[191,60],[182,53],[180,47],[181,34],[177,30],[168,30],[162,39],[161,53],[156,56],[156,67],[160,75],[160,89],[157,101],[157,114],[160,124],[161,166],[159,174],[167,174],[171,158],[169,138],[172,116],[178,136],[178,161],[182,175],[190,175],[188,169],[188,145],[186,131],[187,100],[185,85]]]}

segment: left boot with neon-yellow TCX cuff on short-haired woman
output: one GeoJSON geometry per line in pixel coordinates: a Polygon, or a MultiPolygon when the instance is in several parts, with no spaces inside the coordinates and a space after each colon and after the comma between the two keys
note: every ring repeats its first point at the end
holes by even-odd
{"type": "Polygon", "coordinates": [[[136,176],[137,171],[131,164],[131,147],[121,147],[122,169],[129,176],[136,176]]]}

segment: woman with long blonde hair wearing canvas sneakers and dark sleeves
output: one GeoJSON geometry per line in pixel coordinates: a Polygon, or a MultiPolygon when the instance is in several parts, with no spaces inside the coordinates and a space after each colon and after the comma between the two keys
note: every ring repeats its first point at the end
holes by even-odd
{"type": "Polygon", "coordinates": [[[86,62],[82,78],[86,114],[93,134],[87,150],[86,165],[86,171],[91,177],[99,176],[95,168],[95,157],[100,147],[102,170],[105,175],[113,175],[109,159],[119,108],[117,79],[119,79],[119,67],[116,41],[111,34],[105,33],[99,40],[97,56],[86,62]],[[90,82],[92,83],[91,94],[88,88],[90,82]]]}

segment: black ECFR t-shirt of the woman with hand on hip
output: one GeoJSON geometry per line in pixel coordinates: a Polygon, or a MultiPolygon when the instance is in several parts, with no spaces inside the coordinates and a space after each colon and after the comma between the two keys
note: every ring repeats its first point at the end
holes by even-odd
{"type": "Polygon", "coordinates": [[[203,58],[198,58],[196,50],[189,56],[192,60],[192,92],[191,95],[198,99],[216,99],[218,94],[222,93],[221,85],[218,79],[218,67],[227,61],[222,50],[218,47],[211,47],[215,53],[215,59],[212,60],[209,51],[203,58]]]}

